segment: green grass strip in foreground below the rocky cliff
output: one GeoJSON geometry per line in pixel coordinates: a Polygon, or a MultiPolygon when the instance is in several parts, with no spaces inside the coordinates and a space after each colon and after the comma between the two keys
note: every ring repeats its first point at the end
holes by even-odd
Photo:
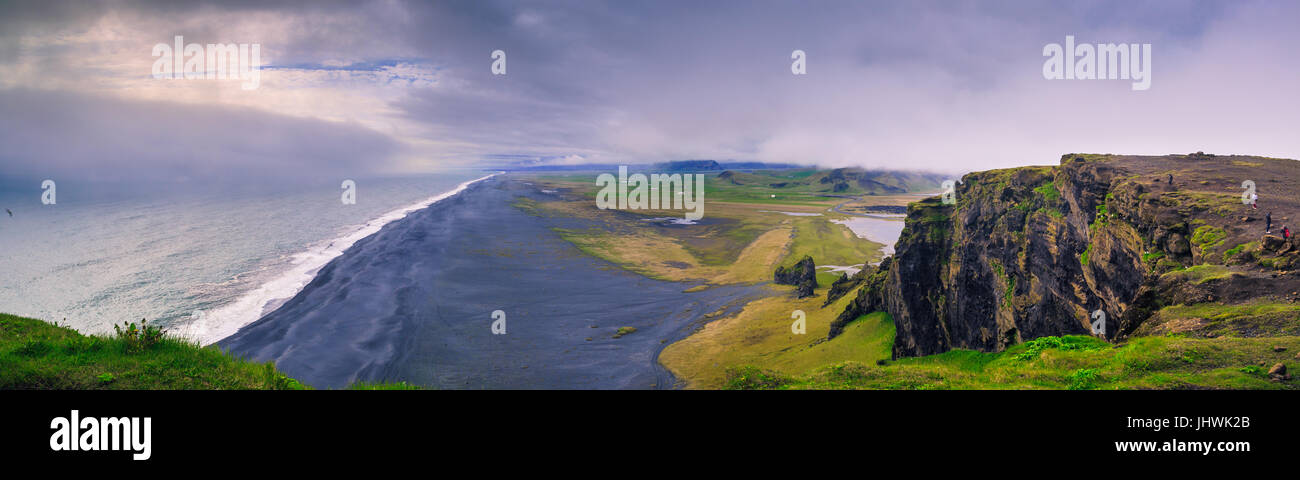
{"type": "Polygon", "coordinates": [[[1288,353],[1297,346],[1300,337],[1138,337],[1121,345],[1087,336],[1043,337],[1001,353],[952,350],[893,362],[838,362],[805,375],[736,366],[725,388],[1294,390],[1300,380],[1275,382],[1257,371],[1261,363],[1291,360],[1288,353]],[[1273,346],[1288,350],[1275,353],[1273,346]]]}

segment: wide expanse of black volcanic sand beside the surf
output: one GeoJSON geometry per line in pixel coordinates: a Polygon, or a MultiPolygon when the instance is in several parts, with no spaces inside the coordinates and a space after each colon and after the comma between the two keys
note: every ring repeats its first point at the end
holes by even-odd
{"type": "Polygon", "coordinates": [[[511,204],[538,187],[495,177],[356,242],[278,310],[218,345],[316,388],[673,388],[664,346],[760,286],[682,293],[588,256],[511,204]],[[491,312],[507,333],[491,333],[491,312]],[[594,325],[594,328],[593,328],[594,325]],[[620,327],[636,333],[612,338],[620,327]],[[588,340],[590,338],[590,340],[588,340]]]}

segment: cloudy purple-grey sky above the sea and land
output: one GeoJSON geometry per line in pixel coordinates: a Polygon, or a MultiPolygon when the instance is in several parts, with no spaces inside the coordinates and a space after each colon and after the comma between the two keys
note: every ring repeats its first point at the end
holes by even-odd
{"type": "Polygon", "coordinates": [[[4,1],[0,177],[282,181],[682,159],[963,173],[1300,157],[1295,1],[4,1]],[[259,86],[152,77],[259,44],[259,86]],[[1150,88],[1044,47],[1152,46],[1150,88]],[[493,74],[491,53],[506,53],[493,74]],[[806,74],[792,73],[792,52],[806,74]]]}

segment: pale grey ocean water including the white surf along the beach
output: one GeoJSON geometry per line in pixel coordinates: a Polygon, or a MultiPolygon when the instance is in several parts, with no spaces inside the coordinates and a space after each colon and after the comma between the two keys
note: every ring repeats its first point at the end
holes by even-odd
{"type": "Polygon", "coordinates": [[[39,183],[0,193],[0,312],[112,332],[148,319],[207,345],[283,303],[393,220],[489,176],[356,178],[239,191],[113,191],[39,183]],[[9,216],[3,211],[13,212],[9,216]]]}

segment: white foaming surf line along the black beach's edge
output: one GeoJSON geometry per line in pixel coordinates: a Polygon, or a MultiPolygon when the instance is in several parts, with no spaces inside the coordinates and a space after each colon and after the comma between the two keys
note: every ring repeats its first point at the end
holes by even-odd
{"type": "Polygon", "coordinates": [[[342,237],[320,242],[316,246],[309,247],[307,251],[294,254],[287,271],[270,281],[261,284],[256,289],[244,293],[237,300],[211,312],[199,315],[199,317],[192,319],[188,324],[181,327],[178,333],[186,338],[195,340],[202,345],[212,345],[222,338],[233,336],[244,325],[257,321],[257,319],[261,319],[263,315],[269,313],[269,311],[265,311],[266,306],[272,303],[282,303],[283,300],[289,300],[294,298],[294,295],[298,295],[298,293],[302,291],[307,284],[311,284],[312,278],[316,278],[316,272],[318,272],[321,267],[325,267],[325,264],[334,258],[343,255],[343,251],[358,241],[373,235],[380,232],[384,225],[387,225],[394,220],[404,219],[413,211],[428,208],[434,203],[455,196],[473,183],[502,173],[504,172],[497,172],[462,182],[455,189],[430,196],[419,203],[384,213],[378,219],[370,220],[365,222],[365,225],[360,225],[342,237]]]}

